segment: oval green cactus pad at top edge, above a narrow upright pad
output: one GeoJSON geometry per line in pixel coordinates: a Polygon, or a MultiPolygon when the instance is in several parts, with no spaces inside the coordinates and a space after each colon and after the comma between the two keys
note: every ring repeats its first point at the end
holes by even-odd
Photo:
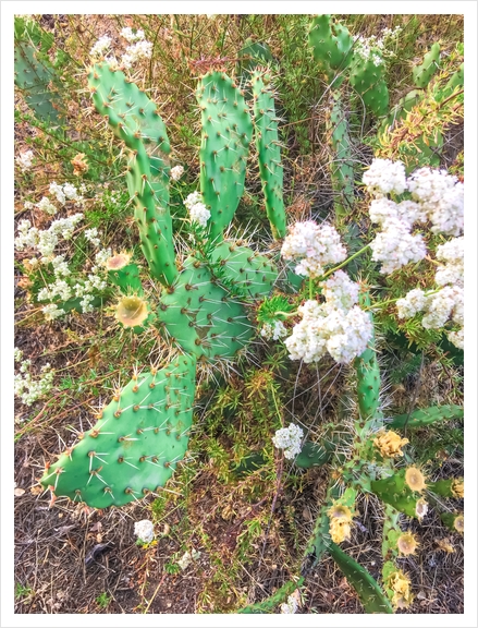
{"type": "MultiPolygon", "coordinates": [[[[353,45],[351,34],[346,26],[333,22],[331,15],[322,14],[314,17],[308,41],[312,48],[314,59],[328,82],[350,64],[353,45]]],[[[343,76],[336,76],[334,87],[339,87],[342,81],[343,76]]]]}

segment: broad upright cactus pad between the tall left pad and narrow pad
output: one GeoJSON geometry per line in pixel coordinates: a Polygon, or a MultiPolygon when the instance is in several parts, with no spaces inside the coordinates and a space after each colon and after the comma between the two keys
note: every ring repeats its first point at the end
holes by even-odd
{"type": "Polygon", "coordinates": [[[223,72],[203,76],[196,98],[203,129],[200,190],[211,213],[210,237],[221,240],[244,192],[253,123],[242,92],[223,72]]]}

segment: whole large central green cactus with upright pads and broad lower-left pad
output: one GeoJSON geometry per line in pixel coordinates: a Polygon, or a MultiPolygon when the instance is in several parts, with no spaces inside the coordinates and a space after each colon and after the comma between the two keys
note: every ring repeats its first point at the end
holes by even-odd
{"type": "Polygon", "coordinates": [[[130,255],[108,261],[122,298],[117,318],[135,333],[156,325],[175,355],[172,364],[138,373],[99,412],[97,424],[51,464],[41,480],[52,495],[105,508],[163,486],[184,458],[192,423],[197,362],[231,361],[254,335],[248,305],[270,293],[274,263],[224,240],[244,190],[255,136],[267,215],[275,238],[285,234],[282,164],[270,75],[252,75],[250,114],[244,93],[223,72],[199,81],[200,193],[210,219],[189,255],[176,259],[169,210],[169,155],[156,105],[122,71],[95,63],[88,82],[96,109],[130,149],[126,180],[150,275],[161,285],[149,303],[130,255]]]}

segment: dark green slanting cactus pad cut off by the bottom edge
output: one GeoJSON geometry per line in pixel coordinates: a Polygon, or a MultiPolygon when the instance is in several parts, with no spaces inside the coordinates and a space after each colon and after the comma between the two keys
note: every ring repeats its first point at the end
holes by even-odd
{"type": "Polygon", "coordinates": [[[328,551],[348,583],[357,592],[366,613],[393,613],[392,606],[377,580],[370,576],[365,567],[345,554],[333,542],[330,543],[328,551]]]}

